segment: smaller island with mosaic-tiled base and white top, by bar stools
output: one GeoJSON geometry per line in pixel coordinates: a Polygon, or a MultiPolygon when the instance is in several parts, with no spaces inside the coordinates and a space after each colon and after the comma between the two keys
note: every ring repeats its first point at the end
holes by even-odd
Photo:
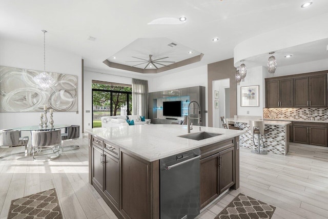
{"type": "MultiPolygon", "coordinates": [[[[240,135],[240,147],[254,149],[253,136],[250,130],[250,118],[228,118],[229,122],[235,124],[246,133],[240,135]]],[[[253,119],[254,120],[254,119],[253,119]]],[[[255,119],[258,120],[258,119],[255,119]]],[[[264,120],[264,129],[269,133],[263,138],[265,150],[275,154],[286,155],[289,151],[289,121],[270,121],[264,120]]],[[[257,134],[255,135],[255,142],[257,142],[257,134]]]]}

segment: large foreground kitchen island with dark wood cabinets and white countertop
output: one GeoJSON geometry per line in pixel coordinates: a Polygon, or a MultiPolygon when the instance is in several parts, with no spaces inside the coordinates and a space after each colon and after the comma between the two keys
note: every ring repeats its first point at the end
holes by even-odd
{"type": "MultiPolygon", "coordinates": [[[[200,141],[180,137],[187,134],[187,126],[183,125],[141,125],[86,131],[90,141],[89,182],[119,218],[169,218],[167,212],[161,212],[163,207],[160,208],[163,196],[163,193],[160,195],[163,188],[161,171],[170,171],[170,167],[178,165],[165,166],[167,169],[163,171],[161,161],[172,155],[183,162],[188,162],[183,160],[188,151],[198,150],[201,156],[200,161],[199,156],[192,159],[186,156],[188,160],[198,158],[200,163],[197,176],[200,198],[198,204],[189,204],[194,208],[191,210],[198,209],[199,213],[200,208],[206,207],[224,191],[239,187],[238,136],[245,131],[201,127],[202,132],[219,135],[200,141]]],[[[194,126],[193,133],[199,133],[199,126],[194,126]]],[[[188,168],[186,164],[184,166],[188,168]]],[[[194,172],[196,169],[197,165],[194,172]]],[[[176,174],[172,182],[180,177],[183,178],[183,172],[176,174]]],[[[172,187],[177,186],[180,185],[172,187]]],[[[171,207],[176,212],[182,208],[181,203],[171,207]]]]}

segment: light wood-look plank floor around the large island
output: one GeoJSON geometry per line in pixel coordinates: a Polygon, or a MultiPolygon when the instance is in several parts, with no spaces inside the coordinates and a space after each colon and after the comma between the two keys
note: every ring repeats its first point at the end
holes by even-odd
{"type": "MultiPolygon", "coordinates": [[[[69,141],[80,149],[65,151],[50,162],[31,156],[0,161],[0,219],[10,201],[56,188],[65,218],[117,218],[88,183],[87,138],[69,141]]],[[[0,156],[23,151],[0,149],[0,156]]],[[[328,218],[328,150],[291,145],[286,156],[253,154],[240,149],[240,188],[230,190],[197,218],[214,218],[238,193],[276,206],[275,218],[328,218]]]]}

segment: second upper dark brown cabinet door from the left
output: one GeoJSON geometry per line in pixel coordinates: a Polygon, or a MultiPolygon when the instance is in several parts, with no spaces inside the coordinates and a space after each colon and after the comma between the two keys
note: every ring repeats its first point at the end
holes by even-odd
{"type": "Polygon", "coordinates": [[[293,107],[293,79],[279,81],[280,107],[293,107]]]}

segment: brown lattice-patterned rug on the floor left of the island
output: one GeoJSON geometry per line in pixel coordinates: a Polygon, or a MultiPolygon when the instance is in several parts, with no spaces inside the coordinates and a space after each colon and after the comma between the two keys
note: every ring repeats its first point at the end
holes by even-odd
{"type": "Polygon", "coordinates": [[[49,189],[11,201],[8,218],[63,219],[56,189],[49,189]]]}

